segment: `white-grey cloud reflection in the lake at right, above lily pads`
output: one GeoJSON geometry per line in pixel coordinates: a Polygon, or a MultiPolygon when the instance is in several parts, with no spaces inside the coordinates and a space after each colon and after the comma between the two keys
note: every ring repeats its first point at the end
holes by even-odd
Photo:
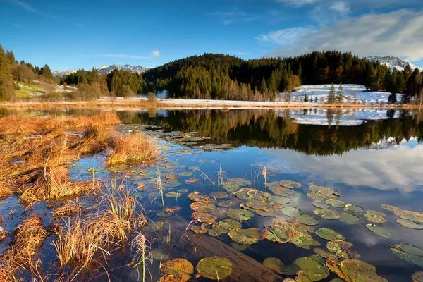
{"type": "Polygon", "coordinates": [[[403,192],[423,188],[423,146],[396,146],[381,150],[350,151],[343,156],[307,156],[288,150],[262,149],[273,157],[269,166],[302,171],[326,180],[403,192]]]}

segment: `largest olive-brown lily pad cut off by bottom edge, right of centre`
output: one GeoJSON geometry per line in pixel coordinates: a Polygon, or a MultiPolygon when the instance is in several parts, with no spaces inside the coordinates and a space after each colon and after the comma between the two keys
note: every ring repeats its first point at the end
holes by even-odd
{"type": "Polygon", "coordinates": [[[341,271],[348,281],[388,282],[376,274],[376,267],[358,259],[345,259],[341,262],[341,271]]]}

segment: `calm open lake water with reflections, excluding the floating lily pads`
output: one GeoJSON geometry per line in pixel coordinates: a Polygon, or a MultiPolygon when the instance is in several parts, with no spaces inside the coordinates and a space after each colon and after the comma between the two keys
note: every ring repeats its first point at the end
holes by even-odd
{"type": "MultiPolygon", "coordinates": [[[[32,114],[46,114],[32,113],[32,114]]],[[[63,112],[47,114],[60,115],[63,112]]],[[[67,112],[64,114],[81,114],[67,112]]],[[[411,281],[411,276],[423,269],[416,264],[405,262],[396,256],[389,246],[409,243],[423,247],[423,231],[412,230],[398,225],[398,216],[381,208],[381,204],[391,204],[400,209],[423,212],[423,146],[419,141],[423,137],[423,122],[419,121],[419,114],[412,111],[344,111],[327,112],[314,111],[273,111],[273,110],[187,110],[187,111],[120,111],[118,115],[125,125],[118,130],[122,132],[142,131],[160,138],[168,168],[161,168],[162,175],[190,172],[198,167],[209,178],[217,181],[218,171],[223,170],[223,180],[228,178],[243,178],[249,180],[258,190],[269,191],[265,188],[264,177],[260,175],[266,166],[269,171],[267,183],[280,180],[293,180],[302,185],[295,188],[295,195],[290,196],[292,207],[298,207],[303,214],[314,216],[311,198],[307,197],[309,185],[324,185],[341,192],[341,200],[347,204],[356,204],[365,210],[377,210],[386,214],[387,223],[382,226],[391,233],[391,238],[367,230],[364,213],[363,223],[348,225],[338,220],[321,219],[314,228],[332,228],[342,233],[345,240],[353,243],[351,248],[360,254],[360,260],[376,266],[380,276],[388,281],[411,281]],[[329,126],[330,124],[330,126],[329,126]],[[139,125],[149,125],[147,128],[139,125]],[[154,125],[154,126],[152,126],[154,125]],[[158,128],[155,128],[158,127],[158,128]],[[195,133],[199,137],[210,137],[204,140],[181,140],[173,138],[173,133],[195,133]],[[165,133],[168,133],[167,135],[165,133]],[[171,140],[169,140],[171,136],[171,140]],[[176,142],[178,140],[178,142],[176,142]],[[210,145],[225,144],[222,149],[212,151],[210,145]],[[231,146],[229,146],[231,145],[231,146]],[[189,168],[189,169],[188,169],[189,168]]],[[[214,148],[214,147],[212,147],[214,148]]],[[[118,177],[125,179],[128,187],[145,183],[145,191],[140,196],[147,215],[153,220],[159,220],[161,199],[150,201],[147,199],[153,190],[148,184],[148,176],[156,168],[131,166],[109,170],[102,166],[104,154],[92,158],[82,159],[75,164],[73,176],[75,178],[90,179],[87,168],[95,166],[99,173],[97,178],[111,179],[118,177]],[[140,172],[145,174],[140,174],[140,172]]],[[[188,189],[188,193],[199,191],[203,195],[222,189],[203,180],[199,171],[192,176],[179,176],[180,185],[168,188],[168,191],[188,189]],[[188,184],[185,180],[198,178],[197,183],[188,184]]],[[[151,183],[150,183],[151,184],[151,183]]],[[[224,191],[224,190],[223,190],[224,191]]],[[[180,207],[176,212],[185,221],[192,219],[188,193],[175,198],[165,197],[166,207],[180,207]]],[[[236,200],[231,196],[231,200],[236,200]]],[[[228,200],[228,199],[224,199],[228,200]]],[[[245,200],[241,201],[245,203],[245,200]]],[[[16,207],[18,202],[8,198],[0,209],[8,211],[16,207]]],[[[39,206],[40,208],[42,206],[39,206]]],[[[236,208],[236,207],[235,207],[236,208]]],[[[343,209],[334,208],[338,212],[343,209]]],[[[9,225],[19,221],[17,216],[9,225]]],[[[255,214],[254,211],[252,211],[255,214]]],[[[277,212],[276,214],[282,214],[277,212]]],[[[223,217],[225,219],[227,217],[223,217]]],[[[166,219],[173,219],[173,216],[166,219]]],[[[174,219],[175,220],[175,219],[174,219]]],[[[221,220],[221,219],[219,219],[221,220]]],[[[243,228],[257,227],[262,231],[269,217],[255,214],[252,219],[243,223],[243,228]]],[[[172,224],[172,222],[171,222],[172,224]]],[[[162,235],[162,234],[161,234],[162,235]]],[[[160,236],[160,235],[159,235],[160,236]]],[[[202,236],[209,236],[208,234],[202,236]]],[[[312,235],[326,250],[326,240],[312,235]]],[[[228,234],[221,234],[219,240],[231,245],[228,234]]],[[[161,243],[153,243],[154,248],[163,249],[161,243]]],[[[44,244],[44,252],[54,255],[49,242],[44,244]]],[[[173,249],[168,255],[171,258],[184,257],[195,263],[200,258],[193,258],[183,250],[173,249]]],[[[261,240],[250,245],[242,252],[262,262],[267,257],[277,257],[285,265],[290,265],[299,257],[314,254],[314,247],[309,250],[296,247],[290,243],[275,244],[269,240],[261,240]]],[[[164,251],[166,252],[166,250],[164,251]]],[[[46,256],[47,261],[54,258],[46,256]]],[[[114,262],[116,265],[128,262],[127,257],[121,257],[114,262]]],[[[154,274],[158,262],[150,267],[154,274]]],[[[116,280],[136,281],[137,276],[132,269],[111,271],[116,280]]],[[[336,278],[331,274],[326,280],[336,278]]],[[[97,280],[106,280],[101,277],[97,280]]],[[[97,281],[96,280],[96,281],[97,281]]],[[[156,279],[157,280],[157,279],[156,279]]],[[[207,279],[204,279],[206,281],[207,279]]]]}

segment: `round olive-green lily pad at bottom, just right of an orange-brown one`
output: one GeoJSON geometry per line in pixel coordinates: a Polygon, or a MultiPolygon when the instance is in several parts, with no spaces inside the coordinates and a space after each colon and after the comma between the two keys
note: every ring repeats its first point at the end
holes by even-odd
{"type": "Polygon", "coordinates": [[[226,257],[206,257],[196,266],[198,274],[212,280],[221,280],[232,274],[232,262],[226,257]]]}

